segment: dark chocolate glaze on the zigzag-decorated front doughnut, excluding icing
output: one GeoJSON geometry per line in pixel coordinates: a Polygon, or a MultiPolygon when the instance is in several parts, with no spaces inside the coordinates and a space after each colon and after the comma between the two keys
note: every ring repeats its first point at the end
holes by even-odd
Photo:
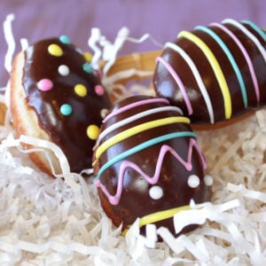
{"type": "MultiPolygon", "coordinates": [[[[151,98],[146,96],[134,96],[121,100],[121,102],[113,106],[111,114],[120,110],[119,108],[123,106],[129,106],[130,104],[137,102],[140,103],[142,100],[146,99],[151,98]]],[[[106,129],[109,129],[117,122],[132,117],[135,114],[140,117],[141,113],[162,106],[168,106],[168,103],[155,102],[142,104],[140,106],[129,108],[129,110],[125,112],[117,113],[107,121],[104,121],[101,127],[101,132],[105,132],[106,129]]],[[[147,129],[112,145],[97,158],[96,154],[98,149],[100,149],[99,147],[103,144],[105,145],[106,141],[110,141],[112,137],[117,136],[121,132],[125,132],[127,129],[131,130],[133,127],[142,123],[180,115],[181,113],[176,110],[152,113],[145,117],[140,117],[135,121],[129,121],[125,125],[113,129],[112,132],[99,139],[94,153],[94,173],[95,176],[97,176],[95,184],[98,186],[98,195],[102,207],[104,208],[106,215],[112,219],[114,225],[119,226],[122,223],[123,229],[125,229],[130,224],[134,223],[137,217],[143,217],[174,207],[186,206],[190,204],[191,200],[195,200],[196,203],[210,200],[210,187],[208,187],[203,181],[205,176],[204,168],[206,167],[205,160],[200,157],[202,154],[200,151],[197,153],[195,147],[192,147],[192,169],[190,170],[187,170],[171,153],[166,153],[162,166],[159,168],[159,179],[156,184],[150,184],[142,174],[137,172],[136,169],[128,167],[123,175],[124,179],[122,182],[121,197],[116,203],[112,203],[108,199],[108,196],[104,191],[105,189],[103,189],[104,186],[107,192],[111,195],[114,195],[117,192],[121,174],[121,165],[125,163],[125,161],[134,163],[148,176],[155,175],[155,168],[159,164],[158,157],[160,149],[163,145],[170,146],[182,159],[187,160],[190,141],[191,138],[194,139],[194,137],[176,137],[149,146],[138,153],[132,154],[129,157],[114,163],[111,167],[107,168],[101,176],[98,176],[100,169],[103,168],[106,162],[112,160],[115,156],[120,155],[121,153],[129,151],[129,149],[134,148],[137,145],[144,144],[146,141],[151,140],[154,137],[165,136],[169,133],[192,131],[190,125],[184,122],[171,123],[153,129],[147,129]],[[196,175],[200,178],[200,185],[196,188],[192,188],[188,185],[188,177],[191,175],[196,175]],[[159,200],[153,200],[149,195],[149,190],[154,185],[160,186],[163,191],[163,196],[159,200]]],[[[175,234],[172,218],[164,219],[155,224],[157,227],[166,226],[173,234],[175,234]]],[[[186,228],[186,231],[187,230],[192,230],[192,227],[186,228]]],[[[141,228],[141,232],[142,234],[145,234],[145,226],[141,228]]]]}

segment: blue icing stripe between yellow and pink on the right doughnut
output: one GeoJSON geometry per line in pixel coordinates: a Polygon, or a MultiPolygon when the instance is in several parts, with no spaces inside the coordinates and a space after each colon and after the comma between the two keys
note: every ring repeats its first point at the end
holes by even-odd
{"type": "Polygon", "coordinates": [[[238,78],[244,106],[245,106],[245,108],[247,108],[246,85],[245,85],[245,82],[243,80],[243,76],[240,72],[239,66],[238,66],[236,60],[234,59],[231,51],[228,49],[227,45],[223,42],[221,37],[219,35],[217,35],[209,27],[197,26],[197,27],[195,27],[195,29],[202,31],[202,32],[206,33],[207,35],[210,35],[215,40],[215,42],[218,43],[218,45],[222,48],[223,52],[225,53],[227,59],[229,59],[231,66],[232,66],[232,68],[233,68],[233,70],[234,70],[234,72],[238,78]]]}

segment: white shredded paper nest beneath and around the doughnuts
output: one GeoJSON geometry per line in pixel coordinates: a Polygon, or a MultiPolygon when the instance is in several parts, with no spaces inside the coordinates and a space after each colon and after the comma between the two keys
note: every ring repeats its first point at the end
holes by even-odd
{"type": "MultiPolygon", "coordinates": [[[[8,71],[12,19],[9,16],[4,24],[9,43],[5,66],[8,71]]],[[[122,41],[118,36],[121,43],[117,42],[117,46],[104,39],[114,51],[109,62],[125,41],[133,40],[128,34],[123,35],[122,41]]],[[[90,44],[93,37],[92,34],[90,44]]],[[[90,47],[95,48],[96,42],[90,47]]],[[[94,61],[96,65],[98,59],[94,61]]],[[[126,75],[130,73],[132,69],[126,75]]],[[[117,74],[113,80],[117,83],[117,74]]],[[[103,82],[112,90],[110,78],[104,75],[103,82]]],[[[1,102],[8,103],[8,87],[3,89],[1,102]]],[[[123,95],[150,91],[136,83],[128,89],[121,85],[120,89],[123,95]]],[[[230,126],[197,132],[208,163],[207,174],[214,178],[212,203],[203,204],[200,209],[192,206],[175,215],[176,231],[190,223],[199,223],[200,227],[178,238],[166,228],[159,228],[163,241],[152,248],[148,247],[150,239],[139,235],[138,221],[125,238],[121,228],[113,227],[100,207],[92,176],[70,173],[66,157],[56,145],[32,137],[17,138],[10,120],[7,105],[0,128],[1,265],[266,264],[265,109],[230,126]],[[31,151],[24,151],[21,143],[35,144],[40,150],[51,149],[59,157],[62,174],[51,178],[35,168],[27,157],[31,151]]]]}

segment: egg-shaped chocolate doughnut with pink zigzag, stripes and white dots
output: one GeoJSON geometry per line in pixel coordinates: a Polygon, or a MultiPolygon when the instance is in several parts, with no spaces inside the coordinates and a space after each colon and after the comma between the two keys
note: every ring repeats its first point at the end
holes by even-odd
{"type": "MultiPolygon", "coordinates": [[[[173,216],[211,199],[212,177],[190,120],[166,98],[121,99],[106,115],[93,154],[94,184],[115,226],[139,218],[175,234],[173,216]]],[[[186,228],[184,231],[192,230],[186,228]]]]}

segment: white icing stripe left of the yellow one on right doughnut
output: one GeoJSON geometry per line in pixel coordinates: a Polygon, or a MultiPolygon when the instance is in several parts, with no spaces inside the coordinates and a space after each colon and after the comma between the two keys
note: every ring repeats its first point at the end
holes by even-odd
{"type": "Polygon", "coordinates": [[[191,67],[192,74],[194,75],[194,77],[195,77],[195,79],[199,85],[200,92],[201,92],[201,94],[205,100],[210,122],[213,124],[215,122],[213,106],[212,106],[212,103],[211,103],[210,98],[209,98],[208,93],[207,93],[206,86],[205,86],[204,82],[202,81],[202,78],[200,76],[200,73],[199,73],[197,66],[195,66],[195,64],[192,61],[192,59],[190,58],[190,56],[181,47],[179,47],[175,43],[166,43],[165,47],[168,47],[168,48],[178,52],[182,56],[182,58],[186,61],[188,66],[191,67]]]}

